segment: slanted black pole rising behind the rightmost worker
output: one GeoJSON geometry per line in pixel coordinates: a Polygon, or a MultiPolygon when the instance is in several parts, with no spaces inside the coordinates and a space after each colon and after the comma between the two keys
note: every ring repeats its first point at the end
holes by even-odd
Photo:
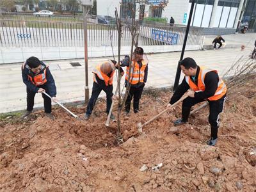
{"type": "Polygon", "coordinates": [[[184,51],[185,51],[186,44],[187,44],[188,32],[189,32],[189,28],[190,28],[190,23],[191,23],[191,18],[192,18],[194,6],[195,6],[195,0],[193,0],[192,3],[191,3],[191,8],[190,8],[190,12],[189,12],[189,19],[188,19],[188,25],[187,25],[187,29],[186,29],[186,35],[185,35],[185,38],[184,38],[184,42],[183,42],[183,46],[182,46],[182,51],[181,51],[181,54],[180,54],[180,60],[179,60],[178,66],[177,66],[177,71],[176,71],[176,76],[175,76],[175,83],[173,85],[173,91],[175,91],[177,89],[177,87],[179,85],[179,81],[180,81],[180,72],[181,72],[180,63],[183,60],[184,51]]]}

